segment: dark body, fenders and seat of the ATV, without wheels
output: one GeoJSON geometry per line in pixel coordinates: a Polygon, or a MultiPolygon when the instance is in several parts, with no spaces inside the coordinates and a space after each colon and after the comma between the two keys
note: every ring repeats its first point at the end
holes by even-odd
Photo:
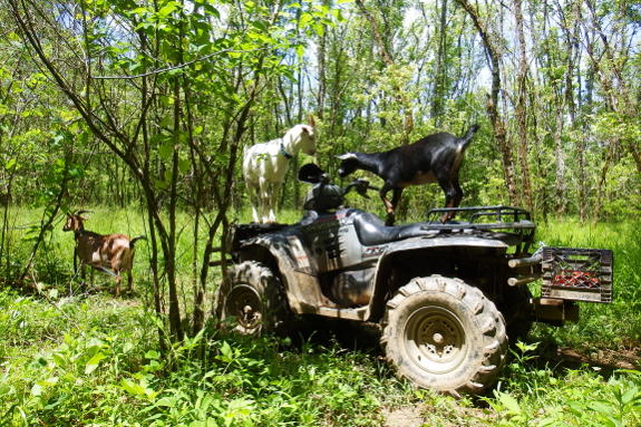
{"type": "Polygon", "coordinates": [[[507,250],[530,245],[531,234],[523,230],[535,229],[528,220],[517,223],[517,232],[487,231],[486,225],[478,230],[467,222],[386,226],[360,210],[308,211],[297,224],[265,226],[253,236],[247,234],[252,224],[234,225],[234,235],[247,237],[230,245],[234,262],[269,258],[278,265],[294,313],[376,321],[389,294],[418,275],[463,275],[498,295],[501,287],[485,276],[506,280],[507,250]],[[479,273],[479,263],[492,271],[479,273]]]}

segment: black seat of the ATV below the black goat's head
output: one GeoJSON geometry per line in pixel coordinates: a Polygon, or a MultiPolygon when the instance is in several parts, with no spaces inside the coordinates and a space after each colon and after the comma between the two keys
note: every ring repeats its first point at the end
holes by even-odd
{"type": "Polygon", "coordinates": [[[387,226],[375,214],[362,211],[357,211],[350,216],[352,217],[358,240],[365,246],[429,234],[429,231],[424,229],[425,224],[421,223],[387,226]]]}

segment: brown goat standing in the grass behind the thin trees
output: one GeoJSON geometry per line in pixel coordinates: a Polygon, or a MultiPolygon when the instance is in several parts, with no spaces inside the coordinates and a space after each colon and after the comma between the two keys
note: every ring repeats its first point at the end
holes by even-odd
{"type": "MultiPolygon", "coordinates": [[[[82,221],[88,217],[81,216],[89,211],[67,213],[67,223],[62,231],[74,231],[76,240],[76,254],[80,259],[81,278],[85,280],[85,265],[91,266],[91,287],[94,285],[94,269],[101,270],[116,276],[116,298],[120,295],[120,273],[126,271],[128,288],[132,291],[132,268],[134,266],[135,243],[145,236],[129,240],[125,234],[101,235],[85,230],[82,221]]],[[[75,262],[75,261],[74,261],[75,262]]]]}

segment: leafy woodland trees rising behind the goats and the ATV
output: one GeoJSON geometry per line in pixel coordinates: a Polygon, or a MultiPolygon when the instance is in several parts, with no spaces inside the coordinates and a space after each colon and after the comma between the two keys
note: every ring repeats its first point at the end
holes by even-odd
{"type": "MultiPolygon", "coordinates": [[[[213,248],[247,204],[243,147],[310,113],[319,153],[299,164],[333,173],[344,152],[478,123],[462,169],[464,205],[524,206],[542,223],[641,211],[635,2],[0,6],[1,275],[38,281],[38,254],[65,212],[135,208],[149,239],[153,304],[168,324],[159,328],[165,350],[205,322],[213,248]],[[26,224],[12,211],[20,206],[40,220],[26,224]],[[21,227],[31,246],[18,258],[9,230],[21,227]],[[177,268],[185,235],[186,271],[177,268]],[[181,307],[185,289],[193,297],[181,307]]],[[[305,190],[295,169],[285,208],[299,208],[305,190]]],[[[400,219],[441,203],[437,186],[410,188],[400,219]]],[[[382,213],[378,200],[368,207],[382,213]]]]}

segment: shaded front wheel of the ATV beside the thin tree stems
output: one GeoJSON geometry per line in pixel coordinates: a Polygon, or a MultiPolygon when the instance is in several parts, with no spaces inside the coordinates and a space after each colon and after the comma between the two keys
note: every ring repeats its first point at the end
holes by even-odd
{"type": "Polygon", "coordinates": [[[243,334],[283,337],[291,320],[279,279],[256,261],[230,268],[215,292],[214,310],[220,322],[231,319],[234,330],[243,334]]]}

